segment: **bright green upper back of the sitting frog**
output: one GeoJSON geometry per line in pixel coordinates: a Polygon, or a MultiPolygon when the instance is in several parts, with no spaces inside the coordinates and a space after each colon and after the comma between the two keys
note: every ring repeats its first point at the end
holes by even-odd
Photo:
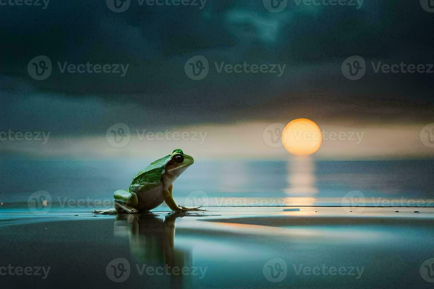
{"type": "Polygon", "coordinates": [[[134,192],[138,188],[152,188],[157,185],[161,181],[161,174],[170,159],[171,155],[164,156],[138,172],[131,182],[130,192],[134,192]]]}

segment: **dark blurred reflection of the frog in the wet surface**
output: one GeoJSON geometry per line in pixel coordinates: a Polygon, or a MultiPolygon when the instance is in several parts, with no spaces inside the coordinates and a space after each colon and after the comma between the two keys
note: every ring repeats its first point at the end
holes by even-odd
{"type": "Polygon", "coordinates": [[[115,220],[115,236],[128,236],[132,258],[141,264],[191,266],[191,252],[174,247],[177,215],[125,214],[115,220]]]}

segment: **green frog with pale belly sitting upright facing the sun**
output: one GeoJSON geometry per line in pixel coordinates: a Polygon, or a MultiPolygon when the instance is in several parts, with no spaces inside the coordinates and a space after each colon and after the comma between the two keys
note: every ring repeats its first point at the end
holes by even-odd
{"type": "Polygon", "coordinates": [[[181,149],[175,149],[171,154],[151,162],[135,175],[128,190],[114,192],[116,213],[148,212],[163,201],[172,211],[204,211],[199,209],[202,206],[178,206],[172,197],[173,182],[193,163],[193,157],[181,149]]]}

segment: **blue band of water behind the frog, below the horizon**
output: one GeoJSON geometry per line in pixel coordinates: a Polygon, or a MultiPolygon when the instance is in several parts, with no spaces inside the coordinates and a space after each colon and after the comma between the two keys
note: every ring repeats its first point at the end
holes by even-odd
{"type": "MultiPolygon", "coordinates": [[[[23,202],[26,207],[30,195],[43,190],[50,194],[53,209],[59,207],[60,211],[95,209],[94,201],[101,203],[96,208],[111,208],[112,203],[102,203],[112,201],[115,190],[128,189],[132,177],[150,161],[42,160],[16,156],[0,159],[3,209],[11,202],[23,202]]],[[[173,192],[175,201],[186,205],[341,205],[342,197],[355,190],[367,198],[366,205],[388,205],[387,201],[381,203],[382,198],[398,203],[401,199],[412,199],[413,205],[417,205],[418,200],[432,200],[433,187],[434,164],[429,160],[227,160],[196,161],[176,180],[173,192]],[[264,198],[271,200],[259,203],[264,198]]],[[[434,204],[425,201],[419,205],[434,204]]]]}

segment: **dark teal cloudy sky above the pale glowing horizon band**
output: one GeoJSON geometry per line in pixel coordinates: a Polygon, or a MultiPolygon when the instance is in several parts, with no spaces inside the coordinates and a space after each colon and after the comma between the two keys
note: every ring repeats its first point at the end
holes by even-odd
{"type": "Polygon", "coordinates": [[[104,0],[51,0],[46,9],[0,6],[1,123],[4,129],[88,134],[118,122],[431,122],[434,73],[374,73],[371,62],[432,64],[433,32],[434,13],[415,0],[365,0],[360,9],[290,0],[280,13],[266,10],[262,0],[207,0],[203,9],[132,0],[122,13],[104,0]],[[53,63],[49,78],[40,81],[27,71],[38,55],[53,63]],[[210,64],[207,77],[197,81],[184,72],[195,55],[210,64]],[[341,71],[352,55],[366,61],[359,80],[341,71]],[[129,67],[124,77],[61,73],[57,62],[129,67]],[[214,62],[286,69],[281,77],[217,73],[214,62]]]}

